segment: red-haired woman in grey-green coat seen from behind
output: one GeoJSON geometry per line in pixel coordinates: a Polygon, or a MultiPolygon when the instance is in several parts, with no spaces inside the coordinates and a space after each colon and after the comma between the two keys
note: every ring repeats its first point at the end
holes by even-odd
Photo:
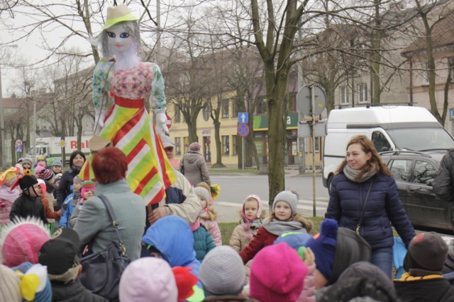
{"type": "Polygon", "coordinates": [[[145,228],[145,202],[131,191],[126,182],[126,155],[116,147],[106,147],[94,155],[92,168],[97,181],[95,196],[84,203],[74,226],[81,248],[91,243],[92,252],[96,253],[107,248],[111,242],[118,244],[106,207],[97,197],[104,195],[114,209],[128,257],[138,259],[145,228]]]}

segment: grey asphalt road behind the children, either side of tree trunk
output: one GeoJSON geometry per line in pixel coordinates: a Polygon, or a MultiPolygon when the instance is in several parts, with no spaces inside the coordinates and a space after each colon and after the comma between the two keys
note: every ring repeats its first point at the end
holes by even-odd
{"type": "MultiPolygon", "coordinates": [[[[218,212],[218,222],[233,222],[240,219],[239,211],[248,194],[257,194],[268,209],[267,175],[210,175],[211,183],[221,186],[214,209],[218,212]]],[[[299,194],[298,209],[302,214],[313,214],[313,185],[311,175],[286,175],[285,187],[292,188],[299,194]]],[[[328,206],[328,190],[323,187],[321,176],[316,177],[316,216],[323,216],[328,206]]],[[[268,211],[269,212],[269,211],[268,211]]]]}

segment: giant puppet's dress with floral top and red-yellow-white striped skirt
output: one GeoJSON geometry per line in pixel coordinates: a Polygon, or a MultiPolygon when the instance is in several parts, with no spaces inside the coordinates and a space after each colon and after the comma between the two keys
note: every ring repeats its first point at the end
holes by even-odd
{"type": "Polygon", "coordinates": [[[154,63],[140,62],[128,70],[115,70],[112,64],[103,59],[94,70],[94,108],[109,109],[99,135],[126,154],[131,190],[146,204],[155,204],[175,182],[172,165],[145,109],[145,100],[150,100],[152,108],[165,108],[164,80],[154,63]],[[109,96],[103,99],[106,93],[109,96]]]}

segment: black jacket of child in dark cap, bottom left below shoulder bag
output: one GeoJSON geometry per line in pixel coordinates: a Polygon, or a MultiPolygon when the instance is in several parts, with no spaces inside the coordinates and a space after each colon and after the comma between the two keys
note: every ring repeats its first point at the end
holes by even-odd
{"type": "Polygon", "coordinates": [[[52,284],[52,302],[107,302],[106,298],[93,294],[88,289],[84,288],[80,282],[74,281],[70,284],[62,284],[62,282],[51,281],[52,284]]]}

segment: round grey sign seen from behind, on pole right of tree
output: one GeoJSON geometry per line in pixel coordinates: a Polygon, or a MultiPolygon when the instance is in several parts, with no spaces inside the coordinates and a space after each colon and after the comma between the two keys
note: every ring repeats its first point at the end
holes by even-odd
{"type": "Polygon", "coordinates": [[[314,91],[314,115],[320,115],[326,106],[326,96],[319,86],[303,86],[297,94],[297,108],[304,115],[312,115],[312,90],[314,91]]]}

